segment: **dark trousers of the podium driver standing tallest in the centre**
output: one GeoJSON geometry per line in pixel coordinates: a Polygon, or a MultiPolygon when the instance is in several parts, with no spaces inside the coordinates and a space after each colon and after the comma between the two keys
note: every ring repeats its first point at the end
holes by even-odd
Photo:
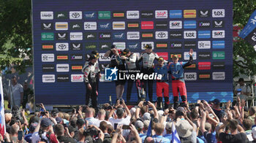
{"type": "MultiPolygon", "coordinates": [[[[148,68],[148,69],[142,69],[141,70],[143,72],[143,74],[152,74],[154,72],[153,68],[148,68]]],[[[153,101],[153,82],[154,80],[142,80],[143,82],[143,88],[146,91],[147,85],[148,85],[148,98],[149,101],[153,101]]]]}

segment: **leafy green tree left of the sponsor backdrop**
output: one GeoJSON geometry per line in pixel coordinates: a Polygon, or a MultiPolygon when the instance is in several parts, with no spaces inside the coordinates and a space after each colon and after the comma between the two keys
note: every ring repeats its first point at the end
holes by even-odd
{"type": "Polygon", "coordinates": [[[24,72],[32,65],[31,47],[31,0],[0,0],[0,69],[24,72]]]}

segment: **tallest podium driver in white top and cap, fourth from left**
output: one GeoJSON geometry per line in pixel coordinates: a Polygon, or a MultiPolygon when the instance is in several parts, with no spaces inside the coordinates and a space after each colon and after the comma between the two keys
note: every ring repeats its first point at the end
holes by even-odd
{"type": "MultiPolygon", "coordinates": [[[[153,74],[154,72],[154,60],[158,60],[159,56],[157,53],[152,52],[151,45],[145,45],[145,52],[140,54],[140,58],[138,58],[138,63],[142,61],[141,72],[143,74],[153,74]]],[[[142,80],[143,88],[146,90],[146,82],[148,82],[148,98],[149,101],[153,101],[153,82],[154,80],[142,80]]]]}

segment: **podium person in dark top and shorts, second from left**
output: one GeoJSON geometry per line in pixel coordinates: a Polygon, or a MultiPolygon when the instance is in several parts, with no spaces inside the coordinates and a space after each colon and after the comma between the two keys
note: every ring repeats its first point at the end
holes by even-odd
{"type": "MultiPolygon", "coordinates": [[[[125,61],[121,59],[121,50],[116,48],[116,45],[112,45],[111,49],[108,50],[104,57],[110,58],[110,68],[117,68],[118,70],[125,70],[125,61]]],[[[119,73],[119,72],[118,72],[119,73]]],[[[116,80],[116,98],[122,98],[124,93],[124,84],[126,80],[116,80]]]]}

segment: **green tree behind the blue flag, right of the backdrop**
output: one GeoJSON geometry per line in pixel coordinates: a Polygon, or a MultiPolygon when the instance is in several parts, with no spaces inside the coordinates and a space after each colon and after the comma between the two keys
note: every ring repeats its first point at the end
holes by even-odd
{"type": "MultiPolygon", "coordinates": [[[[256,1],[233,0],[233,24],[243,28],[246,26],[250,15],[256,9],[256,1]]],[[[233,76],[240,74],[252,76],[256,74],[256,52],[252,45],[243,39],[233,43],[233,76]]]]}

